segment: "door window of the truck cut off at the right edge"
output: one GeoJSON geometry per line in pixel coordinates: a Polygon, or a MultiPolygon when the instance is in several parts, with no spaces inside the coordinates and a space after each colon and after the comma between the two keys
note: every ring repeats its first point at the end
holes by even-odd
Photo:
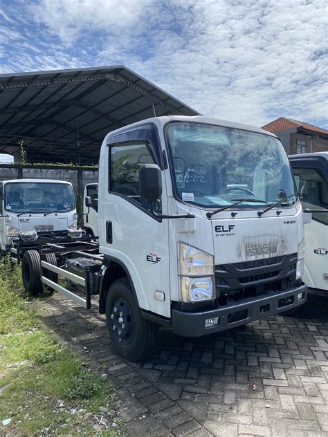
{"type": "MultiPolygon", "coordinates": [[[[298,192],[303,209],[328,209],[328,182],[319,169],[294,168],[294,176],[298,180],[298,192]]],[[[313,213],[317,221],[328,224],[328,213],[313,213]]]]}

